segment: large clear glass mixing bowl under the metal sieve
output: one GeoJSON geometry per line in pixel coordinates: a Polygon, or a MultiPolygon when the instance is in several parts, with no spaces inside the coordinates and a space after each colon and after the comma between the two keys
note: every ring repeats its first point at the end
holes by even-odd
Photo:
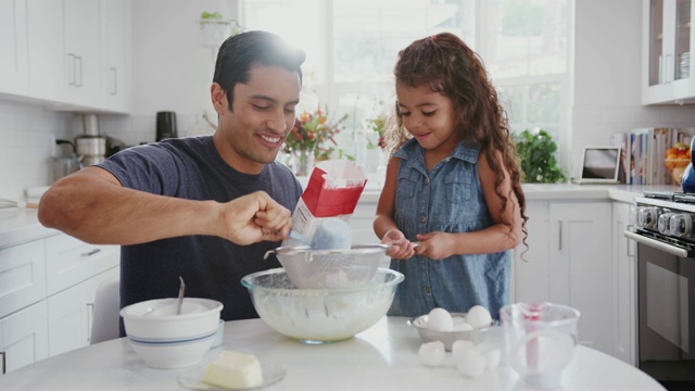
{"type": "Polygon", "coordinates": [[[358,288],[300,289],[283,268],[241,279],[261,319],[270,328],[304,343],[350,339],[377,323],[393,302],[403,274],[378,268],[358,288]]]}

